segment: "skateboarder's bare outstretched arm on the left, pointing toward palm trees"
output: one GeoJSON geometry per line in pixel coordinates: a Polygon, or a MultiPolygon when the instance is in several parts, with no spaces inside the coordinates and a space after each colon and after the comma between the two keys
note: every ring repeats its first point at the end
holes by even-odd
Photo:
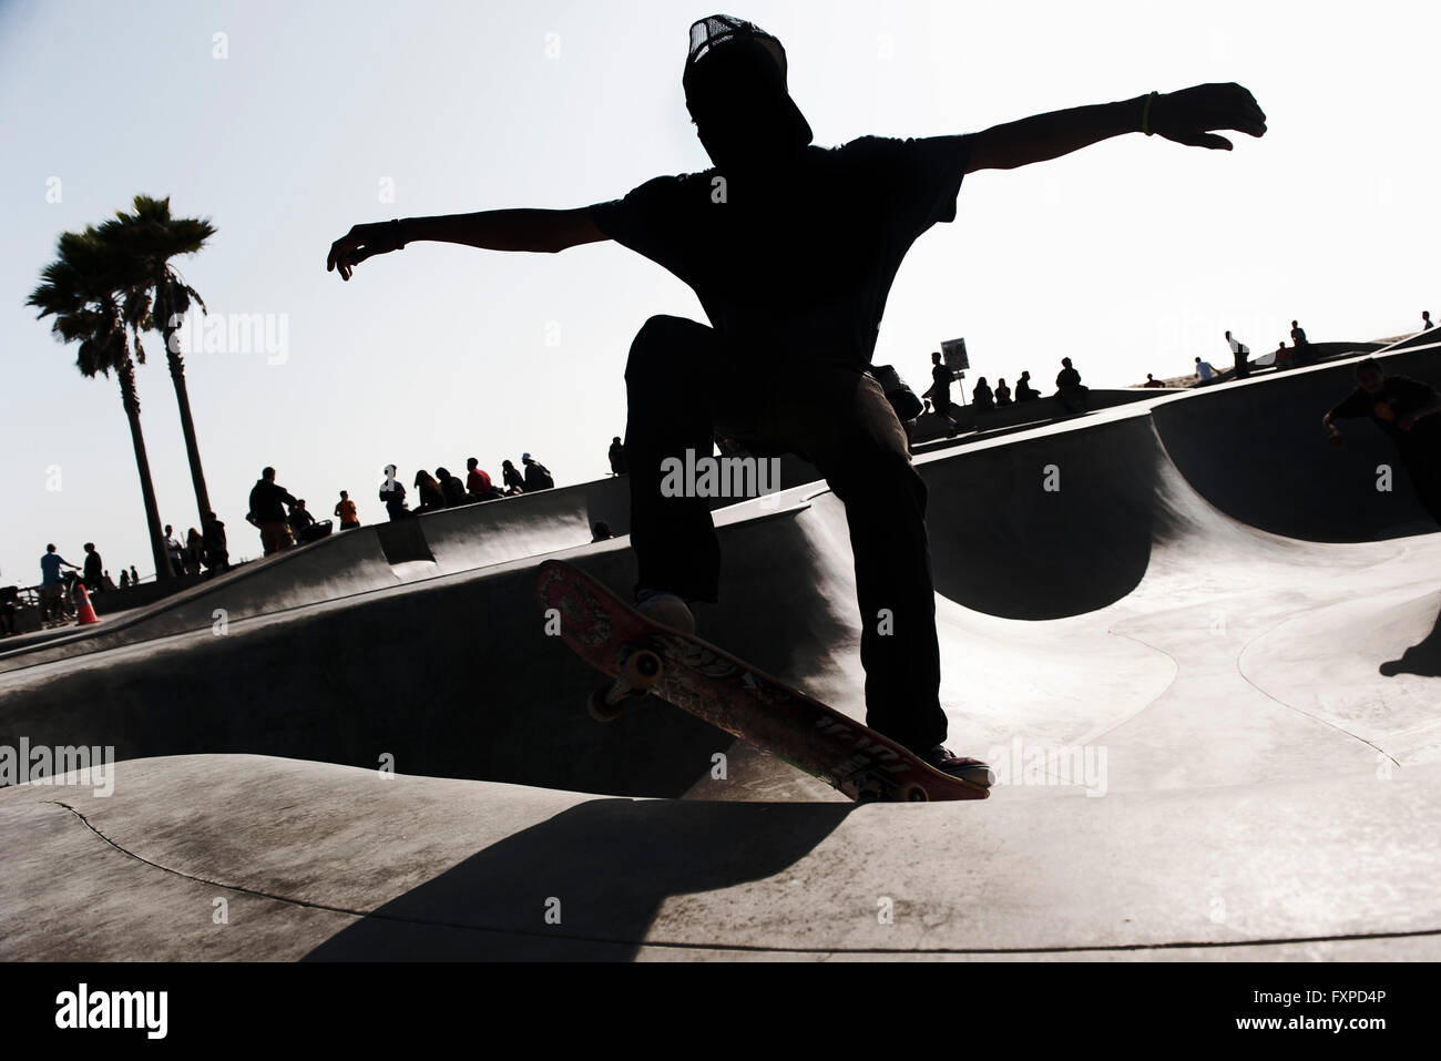
{"type": "Polygon", "coordinates": [[[405,218],[376,225],[356,225],[330,245],[326,270],[340,270],[350,280],[354,267],[378,254],[399,251],[416,239],[461,244],[487,251],[539,251],[555,254],[568,247],[610,239],[591,221],[591,209],[481,210],[437,218],[405,218]]]}

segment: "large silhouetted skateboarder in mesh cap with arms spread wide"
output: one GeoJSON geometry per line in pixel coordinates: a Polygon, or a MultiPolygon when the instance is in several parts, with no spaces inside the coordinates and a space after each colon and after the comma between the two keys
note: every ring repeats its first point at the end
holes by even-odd
{"type": "Polygon", "coordinates": [[[637,604],[693,629],[687,600],[716,597],[720,556],[708,502],[663,492],[669,460],[709,454],[718,428],[751,448],[801,454],[846,506],[867,722],[932,765],[980,780],[990,774],[983,763],[942,745],[925,483],[880,385],[865,375],[896,270],[922,232],[954,221],[967,173],[1056,159],[1127,133],[1229,148],[1210,131],[1258,137],[1265,115],[1239,85],[1197,85],[974,136],[863,137],[823,150],[811,146],[785,78],[774,36],[725,16],[703,19],[690,27],[682,85],[713,169],[657,177],[589,209],[360,225],[334,242],[327,264],[349,280],[357,262],[414,239],[546,252],[615,239],[674,272],[710,326],[657,316],[631,343],[625,450],[637,604]],[[888,630],[875,623],[882,611],[893,621],[888,630]]]}

